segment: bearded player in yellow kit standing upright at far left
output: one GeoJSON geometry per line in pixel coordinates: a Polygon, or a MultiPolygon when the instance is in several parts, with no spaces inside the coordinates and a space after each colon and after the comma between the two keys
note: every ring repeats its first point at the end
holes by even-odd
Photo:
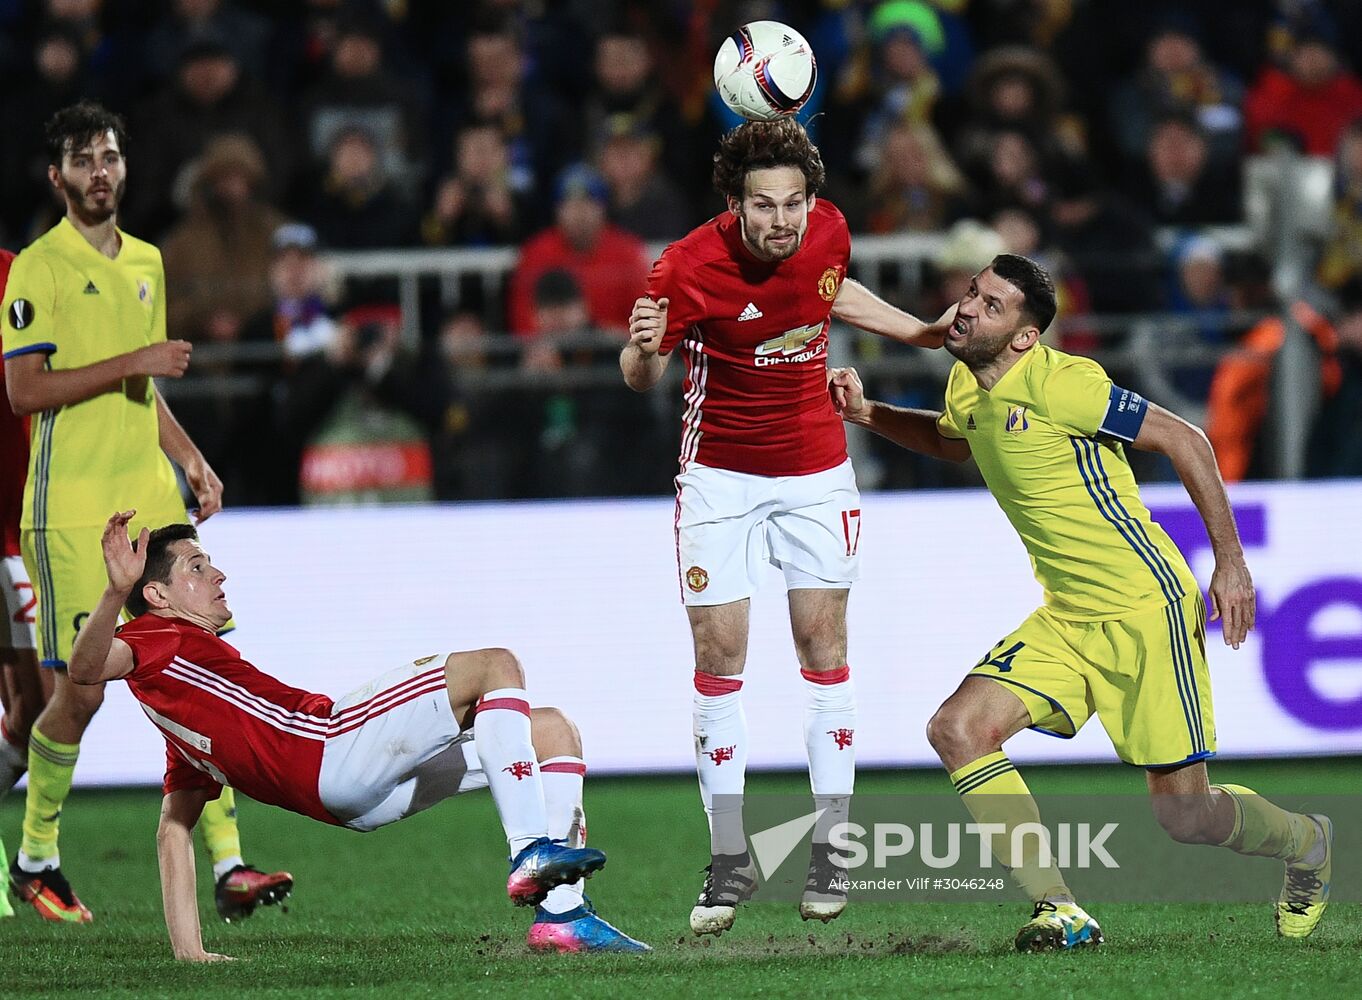
{"type": "MultiPolygon", "coordinates": [[[[174,459],[199,503],[199,520],[222,507],[222,482],[170,413],[153,377],[178,377],[191,345],[166,341],[161,252],[117,228],[127,185],[127,129],[90,102],[46,125],[48,177],[67,214],[15,259],[4,294],[5,390],[31,414],[31,456],[20,548],[38,598],[41,663],[52,698],[29,732],[23,839],[10,884],[46,920],[87,922],[57,851],[61,807],[80,737],[104,688],[65,676],[71,643],[104,590],[99,535],[109,510],[135,504],[144,525],[185,520],[174,459]]],[[[0,755],[8,789],[23,762],[0,755]]],[[[204,816],[223,918],[248,916],[293,886],[241,860],[230,790],[204,816]]]]}

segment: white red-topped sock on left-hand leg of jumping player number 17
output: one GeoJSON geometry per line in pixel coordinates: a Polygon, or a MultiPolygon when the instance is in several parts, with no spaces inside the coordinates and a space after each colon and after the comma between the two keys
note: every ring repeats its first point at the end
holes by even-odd
{"type": "Polygon", "coordinates": [[[748,771],[748,718],[742,678],[695,673],[695,767],[710,820],[710,853],[742,854],[742,787],[748,771]]]}

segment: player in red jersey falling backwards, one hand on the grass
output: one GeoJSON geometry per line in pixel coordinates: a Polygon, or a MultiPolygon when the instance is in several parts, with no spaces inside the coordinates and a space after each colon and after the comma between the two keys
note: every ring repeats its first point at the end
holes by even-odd
{"type": "Polygon", "coordinates": [[[507,650],[422,657],[332,700],[290,687],[218,638],[226,576],[191,525],[128,538],[135,511],[104,531],[108,586],[76,638],[78,684],[123,677],[166,740],[157,851],[176,958],[203,950],[191,831],[223,785],[323,823],[368,832],[490,787],[511,846],[507,894],[538,905],[530,947],[650,951],[601,920],[582,879],[605,854],[582,846],[586,764],[576,728],[534,708],[507,650]],[[117,627],[127,606],[133,619],[117,627]]]}

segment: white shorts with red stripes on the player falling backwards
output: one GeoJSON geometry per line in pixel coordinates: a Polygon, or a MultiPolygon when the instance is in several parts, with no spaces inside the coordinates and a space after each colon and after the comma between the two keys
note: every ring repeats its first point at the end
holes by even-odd
{"type": "Polygon", "coordinates": [[[317,793],[346,827],[377,830],[488,786],[473,730],[460,732],[449,707],[447,658],[390,670],[331,708],[342,723],[321,751],[317,793]]]}

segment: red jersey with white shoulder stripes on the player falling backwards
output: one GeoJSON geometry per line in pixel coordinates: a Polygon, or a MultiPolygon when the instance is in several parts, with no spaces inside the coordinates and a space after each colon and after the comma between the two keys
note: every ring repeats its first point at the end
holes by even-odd
{"type": "Polygon", "coordinates": [[[143,614],[117,635],[136,661],[127,676],[132,696],[166,738],[166,793],[230,785],[336,823],[317,793],[330,698],[262,673],[212,632],[180,619],[143,614]]]}

